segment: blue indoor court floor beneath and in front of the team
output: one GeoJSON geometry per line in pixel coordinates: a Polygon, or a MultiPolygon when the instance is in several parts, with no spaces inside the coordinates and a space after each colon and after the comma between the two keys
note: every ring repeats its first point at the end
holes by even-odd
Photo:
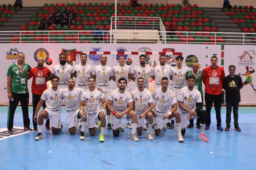
{"type": "MultiPolygon", "coordinates": [[[[6,128],[7,107],[0,107],[0,129],[6,128]]],[[[198,140],[200,130],[186,129],[184,143],[177,140],[176,127],[147,139],[147,132],[138,136],[139,142],[130,139],[131,130],[125,128],[119,137],[105,130],[105,142],[100,143],[98,131],[80,140],[80,130],[70,135],[67,129],[65,108],[62,108],[63,129],[58,135],[43,129],[43,139],[35,141],[37,132],[0,139],[0,169],[2,170],[163,170],[163,169],[256,169],[256,109],[239,108],[241,132],[216,130],[215,111],[212,108],[210,129],[205,131],[209,142],[198,140]]],[[[29,108],[30,127],[32,107],[29,108]]],[[[226,108],[222,107],[222,127],[225,128],[226,108]]],[[[233,122],[233,117],[231,119],[233,122]]],[[[195,123],[194,123],[195,124],[195,123]]],[[[21,108],[17,108],[14,125],[23,127],[21,108]]],[[[125,125],[125,120],[122,120],[125,125]]],[[[6,129],[7,134],[7,129],[6,129]]]]}

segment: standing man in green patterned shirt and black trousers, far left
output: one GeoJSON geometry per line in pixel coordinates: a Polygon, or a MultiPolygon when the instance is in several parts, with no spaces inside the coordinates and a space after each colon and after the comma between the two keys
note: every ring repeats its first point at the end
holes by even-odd
{"type": "Polygon", "coordinates": [[[32,131],[29,127],[29,90],[28,90],[28,74],[31,67],[23,63],[25,61],[25,54],[19,53],[17,55],[17,63],[12,64],[7,72],[7,88],[8,88],[8,119],[7,128],[8,134],[12,134],[13,119],[15,110],[21,102],[24,131],[32,131]]]}

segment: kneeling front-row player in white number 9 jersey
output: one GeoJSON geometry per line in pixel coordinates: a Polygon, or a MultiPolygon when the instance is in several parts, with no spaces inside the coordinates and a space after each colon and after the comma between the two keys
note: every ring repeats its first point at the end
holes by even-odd
{"type": "Polygon", "coordinates": [[[142,134],[144,126],[144,117],[149,121],[149,128],[147,129],[147,138],[153,140],[151,135],[153,126],[153,114],[151,110],[154,108],[153,98],[149,90],[144,88],[144,79],[139,77],[137,80],[138,88],[132,92],[132,100],[134,103],[134,109],[137,113],[138,125],[137,133],[140,136],[142,134]]]}

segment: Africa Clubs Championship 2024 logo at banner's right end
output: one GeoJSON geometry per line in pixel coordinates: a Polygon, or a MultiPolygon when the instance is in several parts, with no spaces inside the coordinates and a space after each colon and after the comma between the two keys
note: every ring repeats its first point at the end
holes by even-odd
{"type": "Polygon", "coordinates": [[[242,55],[238,56],[238,65],[239,66],[254,66],[254,58],[253,55],[255,56],[255,51],[244,51],[242,55]]]}

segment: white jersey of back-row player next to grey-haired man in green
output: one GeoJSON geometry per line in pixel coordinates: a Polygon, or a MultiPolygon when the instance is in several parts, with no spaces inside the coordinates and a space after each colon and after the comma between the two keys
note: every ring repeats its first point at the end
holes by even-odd
{"type": "Polygon", "coordinates": [[[186,73],[189,71],[187,67],[177,69],[177,66],[172,68],[172,91],[178,97],[179,90],[187,85],[186,73]]]}

